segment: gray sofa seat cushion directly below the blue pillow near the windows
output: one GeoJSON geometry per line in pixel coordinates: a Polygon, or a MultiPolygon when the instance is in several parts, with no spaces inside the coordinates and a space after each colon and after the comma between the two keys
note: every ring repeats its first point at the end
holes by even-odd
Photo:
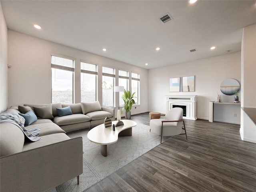
{"type": "Polygon", "coordinates": [[[90,121],[91,118],[84,114],[72,114],[72,115],[66,115],[62,117],[54,117],[53,121],[58,125],[71,125],[76,123],[82,123],[90,121]]]}

